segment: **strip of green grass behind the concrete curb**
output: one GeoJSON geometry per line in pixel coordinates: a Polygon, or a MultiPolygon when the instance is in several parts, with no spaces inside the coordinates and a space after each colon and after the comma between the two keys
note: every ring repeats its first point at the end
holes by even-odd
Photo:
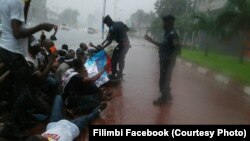
{"type": "Polygon", "coordinates": [[[239,63],[239,59],[217,53],[208,53],[191,49],[182,49],[181,57],[210,70],[224,74],[242,84],[250,85],[250,62],[239,63]]]}

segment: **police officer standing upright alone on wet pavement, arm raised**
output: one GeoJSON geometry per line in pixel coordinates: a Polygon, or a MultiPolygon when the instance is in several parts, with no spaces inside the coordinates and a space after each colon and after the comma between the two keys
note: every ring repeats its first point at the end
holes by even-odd
{"type": "Polygon", "coordinates": [[[175,17],[167,15],[162,17],[163,29],[165,30],[164,40],[162,43],[154,41],[147,34],[145,39],[159,47],[160,58],[160,92],[161,96],[155,100],[154,105],[161,105],[172,100],[170,93],[171,74],[176,62],[176,57],[180,53],[179,39],[174,29],[175,17]]]}

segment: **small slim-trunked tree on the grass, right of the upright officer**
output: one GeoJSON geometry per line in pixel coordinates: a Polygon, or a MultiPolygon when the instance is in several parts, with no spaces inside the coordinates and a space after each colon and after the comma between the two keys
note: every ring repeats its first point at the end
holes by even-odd
{"type": "Polygon", "coordinates": [[[193,18],[196,20],[196,22],[193,25],[193,29],[195,31],[204,31],[208,37],[208,39],[205,40],[205,49],[204,49],[204,55],[208,55],[208,44],[211,41],[211,37],[216,35],[217,33],[217,26],[215,23],[215,18],[212,16],[209,16],[208,13],[197,13],[193,16],[193,18]]]}

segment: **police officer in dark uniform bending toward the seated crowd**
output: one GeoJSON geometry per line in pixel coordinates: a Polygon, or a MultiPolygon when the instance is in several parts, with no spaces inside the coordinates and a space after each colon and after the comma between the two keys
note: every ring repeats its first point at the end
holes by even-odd
{"type": "Polygon", "coordinates": [[[104,18],[103,22],[109,27],[109,33],[101,49],[108,47],[113,40],[118,43],[113,51],[111,60],[111,79],[122,79],[125,57],[130,48],[130,42],[127,35],[129,28],[122,22],[113,21],[109,15],[104,18]],[[117,67],[119,67],[119,70],[117,70],[117,67]]]}

